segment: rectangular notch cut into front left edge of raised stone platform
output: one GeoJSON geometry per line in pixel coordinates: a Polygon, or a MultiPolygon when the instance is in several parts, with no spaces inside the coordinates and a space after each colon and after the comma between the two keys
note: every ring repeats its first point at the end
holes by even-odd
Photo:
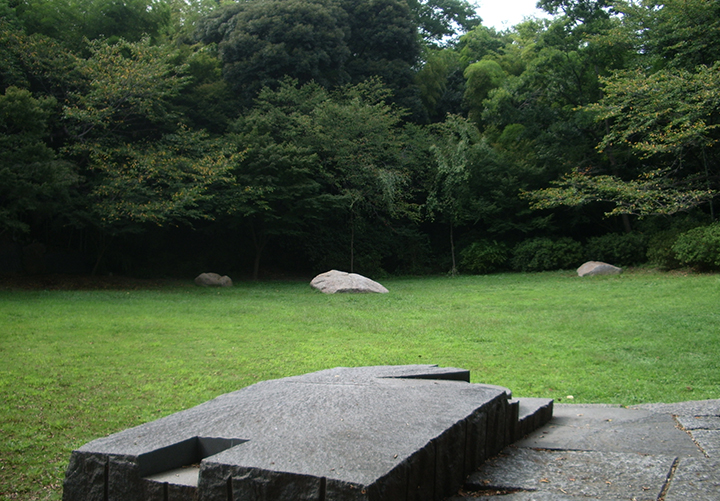
{"type": "Polygon", "coordinates": [[[173,445],[138,456],[141,477],[150,477],[200,463],[236,445],[247,442],[240,438],[192,437],[173,445]]]}

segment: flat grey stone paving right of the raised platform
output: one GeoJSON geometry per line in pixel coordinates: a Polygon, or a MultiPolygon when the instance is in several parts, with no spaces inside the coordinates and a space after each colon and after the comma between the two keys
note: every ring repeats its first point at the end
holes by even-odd
{"type": "Polygon", "coordinates": [[[720,500],[720,400],[556,405],[449,501],[720,500]]]}

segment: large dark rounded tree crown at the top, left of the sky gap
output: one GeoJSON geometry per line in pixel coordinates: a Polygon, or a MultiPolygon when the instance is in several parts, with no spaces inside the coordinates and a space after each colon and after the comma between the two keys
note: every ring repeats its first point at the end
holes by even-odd
{"type": "Polygon", "coordinates": [[[213,12],[197,36],[218,45],[223,75],[247,107],[285,76],[327,89],[379,76],[394,102],[424,118],[417,26],[402,0],[250,0],[213,12]]]}

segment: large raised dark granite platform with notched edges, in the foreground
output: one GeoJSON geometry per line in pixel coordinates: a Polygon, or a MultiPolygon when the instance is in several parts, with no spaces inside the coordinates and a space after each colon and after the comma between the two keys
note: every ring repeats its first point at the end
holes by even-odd
{"type": "Polygon", "coordinates": [[[63,500],[441,500],[552,417],[469,381],[411,365],[257,383],[73,451],[63,500]]]}

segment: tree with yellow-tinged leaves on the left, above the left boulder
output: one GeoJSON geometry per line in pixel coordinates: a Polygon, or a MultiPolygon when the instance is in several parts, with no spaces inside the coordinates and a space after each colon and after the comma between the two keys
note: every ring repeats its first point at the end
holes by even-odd
{"type": "Polygon", "coordinates": [[[85,86],[64,107],[65,151],[88,179],[99,264],[108,236],[209,217],[199,204],[236,152],[177,124],[170,100],[187,79],[173,53],[148,39],[90,42],[89,51],[77,63],[85,86]]]}

